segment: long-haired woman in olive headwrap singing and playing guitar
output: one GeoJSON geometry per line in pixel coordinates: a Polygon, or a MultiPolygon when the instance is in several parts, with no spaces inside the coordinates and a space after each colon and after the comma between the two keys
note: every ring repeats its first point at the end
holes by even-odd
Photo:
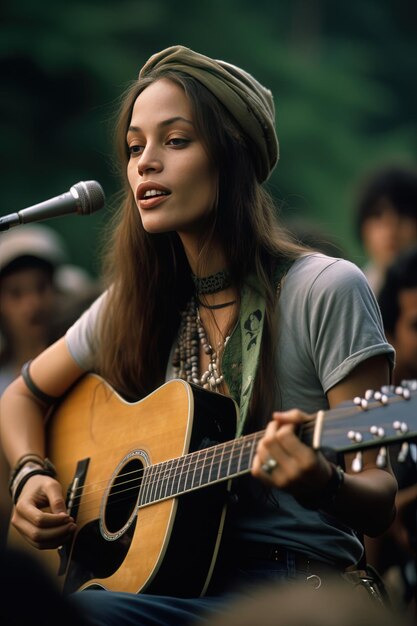
{"type": "MultiPolygon", "coordinates": [[[[326,573],[342,574],[361,558],[358,532],[389,526],[396,483],[389,468],[377,467],[377,452],[363,452],[360,472],[350,459],[344,471],[341,459],[329,460],[297,433],[309,414],[387,383],[393,349],[362,272],[295,244],[277,221],[263,184],[278,160],[275,107],[253,76],[184,46],[162,50],[126,92],[116,137],[123,198],[104,247],[106,291],[1,400],[13,524],[37,548],[73,541],[93,568],[93,541],[66,509],[43,435],[45,412],[86,372],[124,401],[155,398],[172,378],[203,388],[211,402],[231,397],[239,407],[235,436],[260,435],[248,472],[233,481],[207,588],[181,587],[183,576],[197,579],[204,553],[207,520],[198,520],[196,506],[188,551],[164,543],[141,593],[107,581],[108,593],[74,594],[93,624],[200,623],[250,581],[321,584],[326,573]],[[172,550],[177,569],[158,588],[172,550]]],[[[116,431],[107,438],[114,453],[116,431]]],[[[163,438],[166,427],[156,437],[163,438]]],[[[204,442],[210,447],[209,437],[204,442]]],[[[152,452],[143,454],[151,466],[152,452]]],[[[109,565],[104,555],[113,547],[117,560],[117,546],[130,545],[141,511],[133,519],[110,533],[104,517],[97,525],[108,572],[123,571],[124,558],[109,565]]],[[[126,583],[139,561],[125,564],[126,583]]],[[[106,588],[106,575],[96,586],[106,588]]]]}

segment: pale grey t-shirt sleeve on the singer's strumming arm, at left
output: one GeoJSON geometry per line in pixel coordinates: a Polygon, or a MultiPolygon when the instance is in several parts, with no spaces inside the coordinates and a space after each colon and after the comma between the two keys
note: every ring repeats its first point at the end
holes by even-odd
{"type": "Polygon", "coordinates": [[[99,319],[103,313],[107,293],[105,291],[101,294],[65,334],[72,357],[85,371],[95,371],[96,354],[100,343],[99,319]]]}

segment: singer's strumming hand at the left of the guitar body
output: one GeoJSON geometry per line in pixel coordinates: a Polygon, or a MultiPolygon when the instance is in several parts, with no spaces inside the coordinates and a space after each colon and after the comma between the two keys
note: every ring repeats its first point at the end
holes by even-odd
{"type": "Polygon", "coordinates": [[[76,529],[67,513],[60,483],[42,475],[32,476],[23,487],[11,522],[26,541],[40,550],[58,548],[76,529]]]}

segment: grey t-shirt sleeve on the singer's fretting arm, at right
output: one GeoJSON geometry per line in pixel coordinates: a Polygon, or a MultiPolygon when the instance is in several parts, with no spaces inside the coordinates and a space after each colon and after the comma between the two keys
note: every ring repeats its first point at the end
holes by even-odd
{"type": "Polygon", "coordinates": [[[378,303],[353,263],[338,259],[324,267],[311,283],[306,309],[310,353],[325,392],[370,357],[386,354],[394,366],[378,303]]]}

